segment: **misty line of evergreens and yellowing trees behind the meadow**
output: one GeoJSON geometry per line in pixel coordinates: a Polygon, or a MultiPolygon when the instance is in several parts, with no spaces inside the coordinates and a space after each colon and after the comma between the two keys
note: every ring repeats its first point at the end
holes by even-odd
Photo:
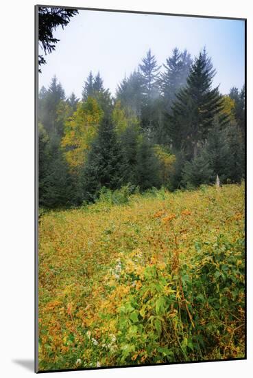
{"type": "Polygon", "coordinates": [[[244,178],[245,89],[222,95],[206,49],[173,49],[158,65],[151,50],[115,96],[99,72],[82,98],[54,76],[38,96],[39,203],[95,201],[104,188],[141,192],[240,183],[244,178]]]}

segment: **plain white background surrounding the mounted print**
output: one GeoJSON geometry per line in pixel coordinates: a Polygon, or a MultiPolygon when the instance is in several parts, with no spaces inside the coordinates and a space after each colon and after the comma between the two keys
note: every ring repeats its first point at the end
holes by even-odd
{"type": "MultiPolygon", "coordinates": [[[[49,1],[50,3],[50,1],[49,1]]],[[[248,360],[53,373],[62,377],[250,377],[252,332],[252,1],[60,0],[53,5],[248,19],[248,360]]],[[[0,374],[27,377],[34,358],[34,5],[1,4],[0,58],[0,374]]],[[[219,41],[217,41],[219,43],[219,41]]]]}

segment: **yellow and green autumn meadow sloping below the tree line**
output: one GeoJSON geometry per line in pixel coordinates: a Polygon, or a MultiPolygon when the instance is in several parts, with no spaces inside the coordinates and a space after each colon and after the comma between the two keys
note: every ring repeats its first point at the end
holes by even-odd
{"type": "Polygon", "coordinates": [[[39,219],[39,370],[234,359],[244,185],[105,192],[39,219]]]}

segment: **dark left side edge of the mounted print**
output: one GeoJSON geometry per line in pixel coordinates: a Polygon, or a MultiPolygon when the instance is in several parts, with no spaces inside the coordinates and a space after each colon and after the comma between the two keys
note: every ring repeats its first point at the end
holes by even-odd
{"type": "Polygon", "coordinates": [[[34,6],[34,372],[38,373],[38,5],[34,6]]]}

